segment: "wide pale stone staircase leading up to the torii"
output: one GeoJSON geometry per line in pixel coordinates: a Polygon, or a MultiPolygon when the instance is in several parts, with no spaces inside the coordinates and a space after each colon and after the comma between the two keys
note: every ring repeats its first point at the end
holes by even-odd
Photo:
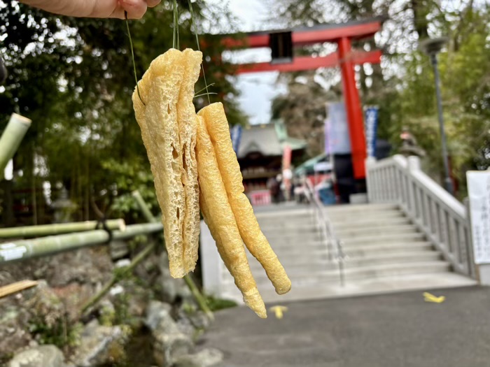
{"type": "MultiPolygon", "coordinates": [[[[474,280],[452,273],[440,252],[394,204],[332,206],[326,207],[325,213],[346,255],[343,286],[337,248],[332,249],[330,261],[312,208],[284,210],[279,206],[277,210],[256,213],[293,285],[288,294],[278,296],[258,261],[248,254],[266,302],[475,285],[474,280]]],[[[218,296],[241,301],[224,266],[218,277],[218,296]]],[[[206,287],[206,279],[204,283],[206,287]]]]}

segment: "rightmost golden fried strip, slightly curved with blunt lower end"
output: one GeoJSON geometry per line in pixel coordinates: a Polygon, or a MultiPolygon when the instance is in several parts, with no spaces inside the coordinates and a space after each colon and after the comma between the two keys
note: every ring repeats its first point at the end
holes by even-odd
{"type": "Polygon", "coordinates": [[[284,294],[291,289],[291,282],[267,238],[260,231],[251,203],[244,194],[243,179],[237,156],[233,150],[223,103],[212,103],[202,108],[198,115],[204,118],[209,132],[240,236],[248,251],[262,264],[277,294],[284,294]]]}

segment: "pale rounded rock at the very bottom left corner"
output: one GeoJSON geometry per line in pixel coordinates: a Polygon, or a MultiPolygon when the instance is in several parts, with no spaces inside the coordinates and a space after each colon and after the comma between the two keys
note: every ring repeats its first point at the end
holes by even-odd
{"type": "Polygon", "coordinates": [[[64,356],[55,345],[40,345],[19,354],[8,363],[8,367],[64,367],[64,356]]]}

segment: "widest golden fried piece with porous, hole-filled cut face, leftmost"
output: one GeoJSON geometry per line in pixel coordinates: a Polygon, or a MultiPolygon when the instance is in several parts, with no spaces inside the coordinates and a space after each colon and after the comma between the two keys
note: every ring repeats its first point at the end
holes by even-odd
{"type": "MultiPolygon", "coordinates": [[[[193,92],[188,92],[187,84],[181,91],[183,78],[188,75],[197,80],[195,64],[200,57],[201,52],[168,50],[153,60],[139,82],[139,92],[145,104],[139,99],[136,89],[132,96],[134,112],[155,178],[170,273],[174,278],[183,277],[193,266],[191,264],[195,264],[193,254],[197,255],[195,247],[198,246],[199,218],[195,216],[195,204],[199,199],[195,174],[197,164],[192,154],[195,141],[192,135],[196,127],[191,124],[188,129],[180,131],[179,117],[188,118],[188,102],[192,105],[194,96],[193,92]],[[178,105],[184,112],[178,113],[178,105]],[[183,152],[186,146],[189,151],[183,152]],[[186,157],[185,161],[183,156],[186,157]],[[186,187],[190,189],[186,190],[186,187]],[[195,243],[192,243],[193,240],[195,243]],[[190,254],[186,259],[185,250],[186,255],[190,254]]],[[[200,60],[197,65],[200,65],[200,60]]]]}

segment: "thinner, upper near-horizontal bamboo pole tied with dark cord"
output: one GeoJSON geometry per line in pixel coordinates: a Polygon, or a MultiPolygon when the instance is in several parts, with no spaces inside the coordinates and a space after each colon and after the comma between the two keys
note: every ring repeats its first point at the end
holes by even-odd
{"type": "MultiPolygon", "coordinates": [[[[44,224],[41,226],[17,226],[11,228],[0,228],[0,238],[12,237],[42,237],[52,236],[62,233],[73,233],[82,231],[92,231],[97,226],[97,221],[44,224]]],[[[126,224],[124,220],[106,220],[107,228],[119,231],[125,231],[126,224]]],[[[99,227],[101,229],[101,227],[99,227]]]]}

